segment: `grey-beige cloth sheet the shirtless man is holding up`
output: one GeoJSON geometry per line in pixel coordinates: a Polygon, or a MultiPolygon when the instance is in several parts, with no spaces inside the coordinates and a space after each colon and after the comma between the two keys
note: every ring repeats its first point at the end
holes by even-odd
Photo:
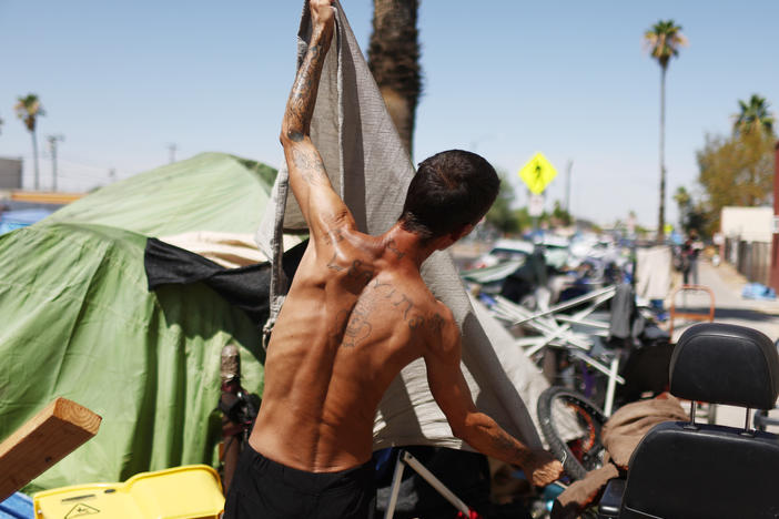
{"type": "MultiPolygon", "coordinates": [[[[375,235],[388,230],[399,216],[414,167],[346,17],[337,2],[335,8],[336,31],[322,73],[311,125],[312,140],[334,189],[351,208],[360,230],[375,235]]],[[[306,1],[299,32],[299,64],[311,35],[310,22],[306,1]]],[[[305,221],[289,190],[289,172],[282,166],[256,236],[260,248],[275,258],[272,311],[281,307],[286,291],[279,267],[281,236],[283,232],[305,230],[305,221]]],[[[447,253],[431,256],[422,274],[433,294],[452,308],[462,327],[463,372],[476,405],[509,434],[529,447],[539,448],[537,428],[523,397],[535,405],[537,394],[546,387],[543,376],[486,311],[474,312],[447,253]]],[[[376,415],[374,447],[402,445],[467,448],[452,435],[435,404],[421,359],[404,368],[393,381],[376,415]]]]}

